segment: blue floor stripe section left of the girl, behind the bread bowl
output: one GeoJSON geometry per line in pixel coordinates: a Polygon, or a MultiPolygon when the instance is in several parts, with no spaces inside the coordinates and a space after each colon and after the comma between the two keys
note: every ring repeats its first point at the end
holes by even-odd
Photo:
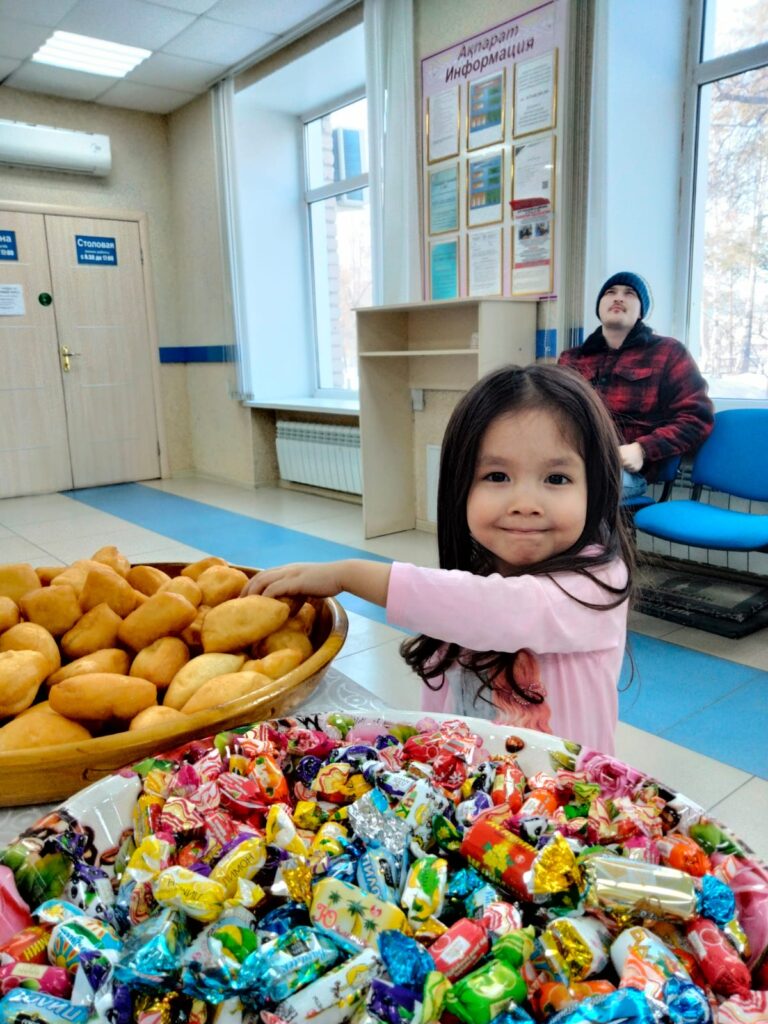
{"type": "MultiPolygon", "coordinates": [[[[350,548],[346,544],[325,541],[288,526],[239,512],[227,512],[189,498],[169,495],[140,483],[116,483],[108,487],[83,487],[62,490],[84,505],[120,516],[128,522],[162,534],[190,548],[200,548],[236,565],[254,565],[261,569],[286,562],[333,562],[341,558],[370,558],[389,562],[391,558],[350,548]]],[[[386,623],[386,611],[353,594],[339,595],[347,611],[386,623]]]]}

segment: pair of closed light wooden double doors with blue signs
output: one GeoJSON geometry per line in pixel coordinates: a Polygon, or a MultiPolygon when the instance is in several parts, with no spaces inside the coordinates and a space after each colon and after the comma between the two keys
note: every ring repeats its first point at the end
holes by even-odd
{"type": "Polygon", "coordinates": [[[161,475],[139,227],[0,209],[0,498],[161,475]]]}

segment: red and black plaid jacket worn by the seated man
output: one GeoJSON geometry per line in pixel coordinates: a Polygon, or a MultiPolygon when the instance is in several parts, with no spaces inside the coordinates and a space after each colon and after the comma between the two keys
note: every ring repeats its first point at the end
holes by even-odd
{"type": "Polygon", "coordinates": [[[712,431],[707,382],[687,348],[653,334],[642,321],[621,348],[609,348],[598,328],[557,361],[578,370],[599,392],[625,444],[640,442],[648,480],[655,478],[653,463],[697,449],[712,431]]]}

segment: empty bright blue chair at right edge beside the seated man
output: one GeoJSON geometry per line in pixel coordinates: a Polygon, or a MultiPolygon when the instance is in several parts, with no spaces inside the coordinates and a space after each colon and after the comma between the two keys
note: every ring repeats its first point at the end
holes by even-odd
{"type": "Polygon", "coordinates": [[[768,515],[735,512],[701,502],[701,488],[750,501],[768,501],[768,409],[730,409],[696,453],[689,501],[649,505],[635,527],[676,544],[719,551],[768,551],[768,515]]]}

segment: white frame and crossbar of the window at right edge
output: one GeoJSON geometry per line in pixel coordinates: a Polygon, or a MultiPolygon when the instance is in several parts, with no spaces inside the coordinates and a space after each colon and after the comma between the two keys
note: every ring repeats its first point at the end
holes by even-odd
{"type": "MultiPolygon", "coordinates": [[[[676,280],[677,294],[684,296],[682,323],[684,324],[685,343],[694,356],[698,355],[699,339],[691,337],[691,308],[696,293],[700,293],[700,281],[696,282],[696,248],[697,232],[703,227],[703,209],[701,191],[697,189],[696,176],[699,168],[702,142],[700,125],[699,90],[713,82],[731,78],[744,72],[753,71],[768,65],[768,42],[759,43],[743,50],[735,50],[716,57],[705,59],[705,28],[708,0],[693,0],[688,33],[688,52],[686,54],[686,84],[683,109],[683,138],[681,155],[681,204],[678,223],[678,272],[676,280]]],[[[715,399],[718,409],[732,409],[760,402],[758,398],[740,398],[718,396],[715,399]]]]}

